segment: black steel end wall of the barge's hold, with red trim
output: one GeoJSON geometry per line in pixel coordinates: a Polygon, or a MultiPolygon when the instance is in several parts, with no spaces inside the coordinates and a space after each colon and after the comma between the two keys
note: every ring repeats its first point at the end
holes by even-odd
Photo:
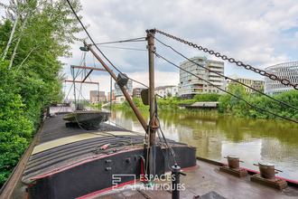
{"type": "MultiPolygon", "coordinates": [[[[196,166],[195,148],[172,147],[176,154],[178,165],[182,168],[196,166]]],[[[166,149],[156,148],[156,173],[163,175],[170,171],[168,167],[173,165],[172,157],[166,149]]],[[[143,148],[119,152],[109,156],[94,158],[80,163],[61,172],[53,172],[40,176],[30,187],[31,198],[77,198],[83,195],[96,193],[113,187],[113,175],[120,175],[121,182],[133,182],[141,175],[141,156],[144,156],[143,148]],[[121,176],[126,175],[126,176],[121,176]]],[[[115,182],[114,182],[115,183],[115,182]]]]}

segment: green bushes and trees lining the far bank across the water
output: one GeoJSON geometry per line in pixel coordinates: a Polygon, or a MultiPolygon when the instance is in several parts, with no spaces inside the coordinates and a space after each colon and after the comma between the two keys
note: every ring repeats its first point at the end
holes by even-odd
{"type": "MultiPolygon", "coordinates": [[[[246,100],[253,106],[260,109],[266,109],[275,114],[284,116],[286,118],[292,118],[298,120],[298,110],[289,108],[275,100],[268,99],[265,96],[259,94],[247,94],[244,91],[243,86],[237,86],[232,91],[233,94],[246,100]]],[[[276,100],[284,101],[285,103],[298,107],[298,91],[291,90],[274,96],[276,100]]],[[[133,98],[135,105],[138,109],[148,110],[148,106],[144,106],[141,99],[133,98]]],[[[237,98],[230,96],[228,94],[217,95],[217,94],[199,94],[196,95],[192,100],[180,100],[178,97],[168,98],[168,99],[158,99],[157,100],[159,111],[169,111],[169,112],[207,112],[210,114],[224,114],[227,116],[233,116],[236,118],[279,118],[268,112],[262,111],[260,109],[255,109],[247,105],[243,100],[238,100],[237,98]],[[219,101],[219,110],[210,109],[181,109],[179,104],[192,104],[199,101],[219,101]]],[[[129,104],[125,101],[123,104],[114,105],[112,109],[130,109],[129,104]]]]}

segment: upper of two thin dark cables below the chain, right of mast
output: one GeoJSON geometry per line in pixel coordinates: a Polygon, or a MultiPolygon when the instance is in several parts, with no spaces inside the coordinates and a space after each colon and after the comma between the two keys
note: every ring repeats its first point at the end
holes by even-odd
{"type": "MultiPolygon", "coordinates": [[[[205,69],[205,70],[207,70],[207,71],[211,71],[209,68],[204,67],[204,66],[201,65],[200,63],[191,61],[191,59],[189,59],[189,58],[187,58],[186,56],[184,56],[181,52],[178,52],[177,50],[175,50],[174,48],[172,48],[172,46],[167,45],[167,44],[163,43],[162,41],[158,40],[156,37],[154,37],[154,39],[155,39],[157,42],[162,43],[164,46],[166,46],[166,47],[172,49],[173,52],[176,52],[177,54],[181,55],[184,59],[188,60],[189,62],[192,62],[192,63],[194,63],[194,64],[200,66],[201,68],[203,68],[203,69],[205,69]]],[[[287,107],[290,107],[290,108],[292,108],[292,109],[297,109],[297,110],[298,110],[298,108],[296,108],[296,107],[294,107],[294,106],[292,106],[292,105],[290,105],[290,104],[287,104],[286,102],[284,102],[284,101],[282,101],[282,100],[277,100],[277,99],[275,99],[275,98],[273,98],[273,97],[271,97],[271,96],[265,94],[264,92],[261,92],[260,90],[256,90],[256,89],[253,88],[253,87],[247,86],[245,83],[242,83],[241,81],[237,81],[237,80],[231,79],[231,78],[229,78],[229,77],[227,77],[227,76],[225,76],[225,75],[222,75],[222,74],[220,74],[220,73],[218,73],[218,72],[215,72],[215,71],[212,71],[212,72],[217,73],[220,77],[224,77],[225,79],[228,79],[228,80],[230,80],[230,81],[235,81],[235,82],[237,82],[237,83],[239,83],[239,84],[242,84],[243,86],[245,86],[245,87],[247,87],[247,88],[249,88],[249,89],[251,89],[251,90],[255,90],[256,92],[258,92],[258,93],[260,93],[260,94],[262,94],[262,95],[265,95],[265,97],[270,98],[271,100],[275,100],[275,101],[277,101],[277,102],[279,102],[279,103],[284,104],[284,105],[287,106],[287,107]]]]}

